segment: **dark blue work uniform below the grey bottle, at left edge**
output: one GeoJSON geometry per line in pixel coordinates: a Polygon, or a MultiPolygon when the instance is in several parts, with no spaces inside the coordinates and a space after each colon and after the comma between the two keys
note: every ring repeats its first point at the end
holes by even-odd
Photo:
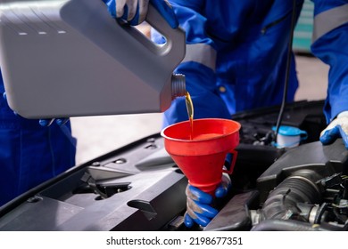
{"type": "Polygon", "coordinates": [[[0,72],[0,206],[75,165],[70,124],[42,127],[15,115],[0,72]]]}

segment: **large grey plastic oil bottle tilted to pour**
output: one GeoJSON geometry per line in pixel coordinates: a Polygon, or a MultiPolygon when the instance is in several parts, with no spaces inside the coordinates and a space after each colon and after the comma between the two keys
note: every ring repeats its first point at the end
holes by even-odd
{"type": "Polygon", "coordinates": [[[149,6],[166,44],[112,19],[97,0],[0,4],[0,67],[10,107],[27,118],[162,112],[185,95],[173,76],[185,32],[149,6]]]}

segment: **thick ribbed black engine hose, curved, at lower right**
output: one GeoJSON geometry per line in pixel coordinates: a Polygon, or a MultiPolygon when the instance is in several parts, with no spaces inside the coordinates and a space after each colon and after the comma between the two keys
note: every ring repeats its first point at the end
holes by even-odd
{"type": "Polygon", "coordinates": [[[318,204],[321,194],[317,185],[302,176],[290,176],[270,192],[263,204],[262,220],[303,218],[298,203],[318,204]]]}

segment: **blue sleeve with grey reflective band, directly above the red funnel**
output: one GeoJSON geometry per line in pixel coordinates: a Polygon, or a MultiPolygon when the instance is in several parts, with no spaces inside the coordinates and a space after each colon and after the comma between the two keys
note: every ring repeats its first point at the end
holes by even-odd
{"type": "MultiPolygon", "coordinates": [[[[177,14],[180,27],[186,30],[186,57],[175,73],[186,76],[186,90],[194,104],[194,118],[230,118],[228,108],[216,92],[216,45],[206,34],[205,1],[170,1],[177,14]]],[[[161,36],[154,36],[161,43],[161,36]]],[[[185,98],[173,100],[164,113],[163,126],[188,119],[185,98]]]]}

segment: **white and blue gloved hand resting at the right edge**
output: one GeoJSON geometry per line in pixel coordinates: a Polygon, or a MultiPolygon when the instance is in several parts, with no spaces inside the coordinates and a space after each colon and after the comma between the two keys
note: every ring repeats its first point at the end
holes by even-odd
{"type": "Polygon", "coordinates": [[[324,145],[330,144],[340,137],[344,140],[345,148],[348,149],[348,111],[341,112],[320,133],[320,141],[324,145]]]}

